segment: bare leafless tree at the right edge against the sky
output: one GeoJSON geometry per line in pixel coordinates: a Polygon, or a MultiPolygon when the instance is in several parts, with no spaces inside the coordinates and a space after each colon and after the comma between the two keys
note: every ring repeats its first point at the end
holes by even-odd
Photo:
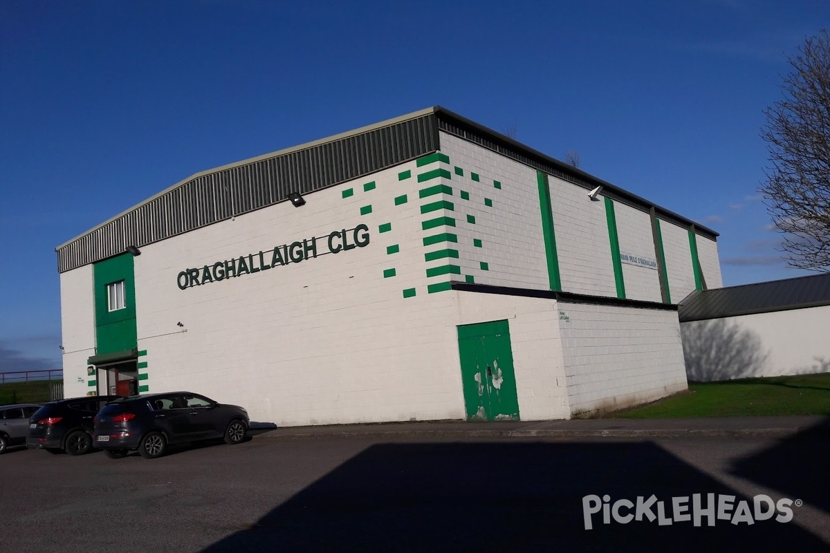
{"type": "Polygon", "coordinates": [[[764,109],[769,166],[759,191],[784,234],[787,264],[830,272],[830,36],[822,30],[788,59],[784,99],[764,109]]]}

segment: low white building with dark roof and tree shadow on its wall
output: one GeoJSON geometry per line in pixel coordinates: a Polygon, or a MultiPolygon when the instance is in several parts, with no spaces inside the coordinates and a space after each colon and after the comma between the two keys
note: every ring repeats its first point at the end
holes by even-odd
{"type": "Polygon", "coordinates": [[[679,316],[691,381],[830,371],[830,274],[696,290],[679,316]]]}

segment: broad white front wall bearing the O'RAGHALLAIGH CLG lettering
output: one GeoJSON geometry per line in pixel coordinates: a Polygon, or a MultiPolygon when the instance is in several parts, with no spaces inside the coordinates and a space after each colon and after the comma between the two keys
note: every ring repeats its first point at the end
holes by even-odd
{"type": "Polygon", "coordinates": [[[281,425],[463,418],[452,293],[427,289],[424,170],[404,163],[142,248],[149,391],[198,388],[281,425]],[[326,253],[332,230],[361,223],[369,245],[326,253]],[[178,288],[184,269],[311,236],[315,259],[178,288]]]}

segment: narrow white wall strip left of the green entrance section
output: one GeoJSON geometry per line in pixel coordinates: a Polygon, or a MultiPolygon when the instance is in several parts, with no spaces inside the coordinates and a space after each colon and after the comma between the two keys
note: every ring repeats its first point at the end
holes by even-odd
{"type": "Polygon", "coordinates": [[[95,387],[87,386],[86,360],[95,355],[95,299],[92,265],[61,273],[61,346],[63,346],[63,396],[78,397],[95,387]]]}

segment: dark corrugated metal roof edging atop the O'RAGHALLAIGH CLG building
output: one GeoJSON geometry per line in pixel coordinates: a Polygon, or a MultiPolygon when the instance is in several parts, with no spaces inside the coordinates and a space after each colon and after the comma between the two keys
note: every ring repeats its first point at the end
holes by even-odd
{"type": "Polygon", "coordinates": [[[394,167],[441,148],[440,133],[524,163],[715,240],[718,233],[440,106],[198,172],[56,247],[58,271],[394,167]]]}

